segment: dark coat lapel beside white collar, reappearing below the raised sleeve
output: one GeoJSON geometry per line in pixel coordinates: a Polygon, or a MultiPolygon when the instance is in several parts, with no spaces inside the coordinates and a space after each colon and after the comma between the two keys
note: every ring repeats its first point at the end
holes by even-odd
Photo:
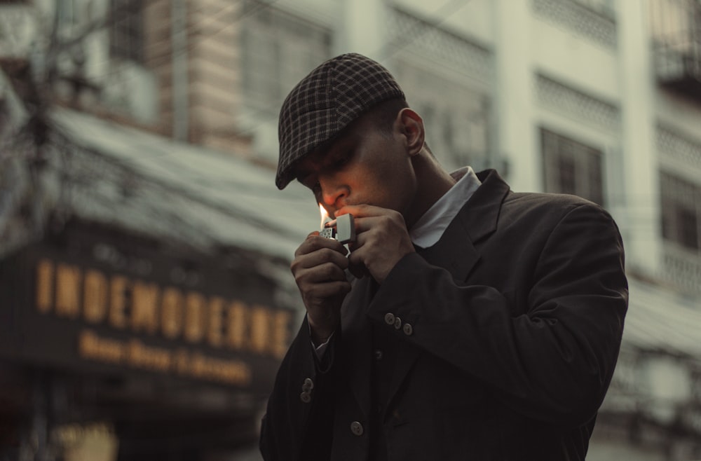
{"type": "MultiPolygon", "coordinates": [[[[506,197],[509,186],[494,170],[478,174],[482,186],[477,188],[455,219],[449,224],[440,240],[426,249],[418,251],[433,266],[440,266],[451,273],[456,283],[462,284],[477,261],[479,253],[475,243],[488,237],[496,230],[501,203],[506,197]]],[[[414,366],[421,350],[402,345],[390,381],[389,401],[397,393],[404,378],[414,366]]]]}

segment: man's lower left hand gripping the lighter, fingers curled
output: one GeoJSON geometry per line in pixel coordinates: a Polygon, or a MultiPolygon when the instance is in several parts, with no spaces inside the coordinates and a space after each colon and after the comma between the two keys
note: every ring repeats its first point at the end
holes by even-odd
{"type": "Polygon", "coordinates": [[[351,291],[346,280],[346,250],[338,241],[318,232],[307,235],[294,252],[290,269],[307,310],[315,344],[324,343],[341,321],[341,303],[351,291]]]}

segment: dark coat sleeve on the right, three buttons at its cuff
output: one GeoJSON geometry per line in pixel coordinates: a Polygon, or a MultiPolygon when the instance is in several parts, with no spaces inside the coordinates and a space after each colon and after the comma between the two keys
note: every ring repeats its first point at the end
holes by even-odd
{"type": "Polygon", "coordinates": [[[410,322],[411,336],[390,334],[481,381],[512,411],[576,427],[601,405],[618,357],[627,310],[622,242],[611,216],[586,204],[562,213],[534,246],[530,259],[483,261],[503,264],[503,278],[519,285],[528,280],[517,295],[498,280],[456,282],[409,254],[368,315],[379,324],[386,312],[410,322]]]}

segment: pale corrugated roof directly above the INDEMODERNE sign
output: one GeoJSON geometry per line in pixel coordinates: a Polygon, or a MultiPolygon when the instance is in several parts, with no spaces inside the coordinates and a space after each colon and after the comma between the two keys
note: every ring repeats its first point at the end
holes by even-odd
{"type": "Polygon", "coordinates": [[[85,113],[61,109],[53,118],[86,149],[72,153],[64,184],[83,218],[285,259],[319,226],[311,193],[299,184],[278,191],[274,170],[85,113]]]}

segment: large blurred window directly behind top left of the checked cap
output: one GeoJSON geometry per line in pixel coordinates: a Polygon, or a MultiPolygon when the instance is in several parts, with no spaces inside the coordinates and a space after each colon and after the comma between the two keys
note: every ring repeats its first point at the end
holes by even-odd
{"type": "Polygon", "coordinates": [[[270,6],[249,1],[241,30],[247,106],[277,115],[283,99],[311,69],[331,57],[331,32],[270,6]]]}

